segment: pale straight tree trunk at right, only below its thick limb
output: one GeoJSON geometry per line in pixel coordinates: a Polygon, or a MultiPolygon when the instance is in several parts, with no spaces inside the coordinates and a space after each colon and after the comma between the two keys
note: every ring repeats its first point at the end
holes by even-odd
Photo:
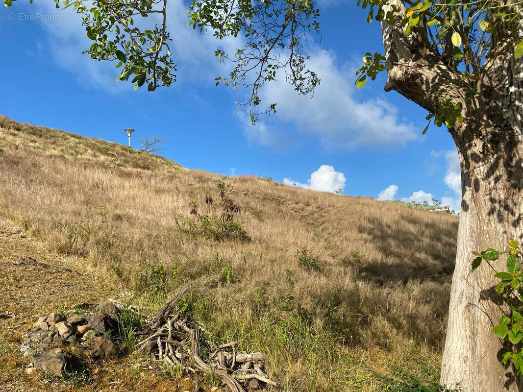
{"type": "MultiPolygon", "coordinates": [[[[485,262],[471,272],[473,250],[502,250],[509,239],[523,238],[520,129],[518,123],[512,130],[490,130],[483,140],[457,141],[462,202],[441,368],[441,384],[448,388],[466,392],[523,390],[521,380],[516,380],[510,368],[504,371],[497,359],[502,344],[492,327],[498,324],[502,309],[493,302],[495,272],[485,262]]],[[[492,262],[496,271],[505,267],[505,259],[492,262]]]]}

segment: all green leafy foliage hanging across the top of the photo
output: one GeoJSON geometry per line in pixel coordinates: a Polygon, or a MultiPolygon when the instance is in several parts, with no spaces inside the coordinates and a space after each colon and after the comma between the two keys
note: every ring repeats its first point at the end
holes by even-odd
{"type": "MultiPolygon", "coordinates": [[[[9,7],[15,0],[4,0],[9,7]]],[[[54,0],[59,8],[60,0],[54,0]]],[[[30,0],[32,2],[32,0],[30,0]]],[[[95,60],[115,61],[121,68],[117,80],[131,80],[134,88],[147,85],[150,91],[175,82],[176,65],[169,50],[168,0],[62,0],[63,8],[74,7],[83,15],[87,37],[93,41],[84,52],[95,60]],[[142,18],[137,25],[135,18],[142,18]],[[139,25],[139,26],[138,26],[139,25]]],[[[358,0],[368,9],[367,21],[401,24],[405,37],[420,40],[422,54],[437,56],[456,73],[470,95],[481,95],[485,66],[507,49],[523,56],[523,0],[358,0]]],[[[299,94],[312,93],[320,83],[306,67],[303,40],[319,32],[320,10],[314,0],[192,0],[188,23],[218,39],[237,37],[241,46],[234,53],[216,50],[219,61],[232,65],[216,84],[249,89],[247,102],[251,120],[257,120],[259,89],[265,82],[285,75],[299,94]],[[239,37],[238,37],[239,36],[239,37]]],[[[415,46],[415,45],[414,45],[415,46]]],[[[363,87],[385,70],[385,57],[366,53],[358,70],[356,86],[363,87]]],[[[272,103],[266,110],[275,111],[272,103]]],[[[438,112],[427,119],[451,128],[462,121],[461,108],[441,102],[438,112]]],[[[425,131],[426,132],[426,129],[425,131]]]]}

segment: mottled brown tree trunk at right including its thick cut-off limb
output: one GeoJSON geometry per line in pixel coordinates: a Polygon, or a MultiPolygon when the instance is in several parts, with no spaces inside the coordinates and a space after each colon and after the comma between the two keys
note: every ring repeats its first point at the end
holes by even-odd
{"type": "MultiPolygon", "coordinates": [[[[404,10],[401,1],[389,4],[404,10]]],[[[405,38],[399,24],[382,23],[385,90],[430,112],[444,99],[463,107],[463,123],[449,130],[460,156],[462,202],[441,384],[464,392],[523,391],[497,359],[502,344],[492,327],[503,309],[495,303],[495,272],[485,263],[471,272],[473,250],[505,249],[509,239],[523,239],[523,61],[501,48],[484,64],[480,94],[471,97],[459,73],[430,50],[424,31],[405,38]]]]}

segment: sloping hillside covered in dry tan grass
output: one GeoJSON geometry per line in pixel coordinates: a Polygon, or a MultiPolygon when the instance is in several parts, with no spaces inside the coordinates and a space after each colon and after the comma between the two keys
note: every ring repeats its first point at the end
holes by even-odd
{"type": "Polygon", "coordinates": [[[0,216],[151,312],[191,282],[195,317],[268,352],[278,390],[376,390],[395,366],[438,377],[457,217],[223,178],[4,117],[0,167],[0,216]],[[221,190],[240,206],[232,223],[221,190]]]}

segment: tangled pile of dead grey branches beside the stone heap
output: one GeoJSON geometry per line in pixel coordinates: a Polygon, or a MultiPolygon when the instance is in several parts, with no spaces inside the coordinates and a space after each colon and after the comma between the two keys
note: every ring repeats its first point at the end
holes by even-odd
{"type": "Polygon", "coordinates": [[[178,301],[189,287],[185,286],[145,325],[141,335],[146,338],[137,344],[138,350],[168,365],[183,366],[189,372],[213,373],[233,392],[276,386],[264,372],[266,354],[236,352],[235,342],[214,344],[204,338],[203,328],[179,310],[178,301]],[[201,352],[210,354],[204,355],[208,356],[207,362],[201,358],[201,352]]]}

